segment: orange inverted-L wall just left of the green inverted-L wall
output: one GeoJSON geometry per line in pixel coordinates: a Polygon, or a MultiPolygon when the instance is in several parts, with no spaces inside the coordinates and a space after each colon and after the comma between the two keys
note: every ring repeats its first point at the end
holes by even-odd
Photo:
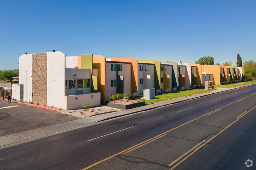
{"type": "Polygon", "coordinates": [[[111,61],[131,62],[132,63],[132,93],[138,92],[138,60],[135,58],[111,58],[111,61]]]}

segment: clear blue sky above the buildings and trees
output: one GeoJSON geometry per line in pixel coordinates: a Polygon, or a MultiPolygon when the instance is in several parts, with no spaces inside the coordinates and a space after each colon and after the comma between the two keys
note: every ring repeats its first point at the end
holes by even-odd
{"type": "Polygon", "coordinates": [[[0,69],[61,51],[195,63],[256,60],[256,0],[0,0],[0,69]]]}

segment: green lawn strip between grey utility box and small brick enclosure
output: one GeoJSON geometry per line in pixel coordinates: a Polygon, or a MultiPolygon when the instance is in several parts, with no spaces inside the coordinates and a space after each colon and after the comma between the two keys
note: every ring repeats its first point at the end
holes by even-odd
{"type": "Polygon", "coordinates": [[[176,92],[176,93],[167,93],[164,95],[156,95],[156,99],[152,99],[152,100],[140,99],[140,101],[145,101],[145,104],[149,104],[149,103],[154,103],[154,102],[166,101],[168,99],[174,99],[174,98],[178,98],[178,97],[194,95],[197,93],[204,93],[207,91],[211,91],[211,90],[205,90],[205,89],[185,90],[185,91],[176,92]]]}

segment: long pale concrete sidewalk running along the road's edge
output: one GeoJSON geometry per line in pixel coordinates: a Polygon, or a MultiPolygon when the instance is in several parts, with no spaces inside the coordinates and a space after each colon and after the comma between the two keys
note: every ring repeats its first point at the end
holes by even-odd
{"type": "MultiPolygon", "coordinates": [[[[252,84],[256,84],[256,83],[252,83],[252,84]]],[[[232,88],[215,88],[212,91],[205,92],[205,93],[198,93],[195,95],[179,97],[176,99],[170,99],[167,101],[152,103],[152,104],[148,104],[145,106],[141,106],[141,107],[137,107],[137,108],[133,108],[133,109],[129,109],[129,110],[122,110],[119,112],[105,113],[102,115],[85,117],[85,118],[77,119],[74,121],[62,122],[62,123],[58,123],[58,124],[54,124],[54,125],[50,125],[50,126],[46,126],[46,127],[33,129],[33,130],[27,130],[27,131],[20,132],[20,133],[14,133],[14,134],[6,135],[6,136],[1,136],[0,137],[0,148],[5,148],[8,146],[12,146],[15,144],[20,144],[20,143],[25,143],[27,141],[32,141],[35,139],[39,139],[41,137],[54,135],[54,134],[61,133],[61,132],[67,131],[67,130],[80,128],[82,126],[87,126],[89,124],[93,124],[95,122],[103,121],[106,119],[113,119],[115,117],[121,117],[124,115],[129,115],[129,114],[133,114],[133,113],[137,113],[137,112],[152,110],[152,109],[159,108],[162,106],[167,106],[170,104],[183,102],[183,101],[187,101],[190,99],[203,97],[206,95],[211,95],[214,93],[220,93],[220,92],[227,91],[227,90],[233,90],[236,88],[250,86],[252,84],[245,84],[245,85],[236,86],[236,87],[232,87],[232,88]]],[[[104,107],[108,107],[108,106],[104,106],[104,107]]]]}

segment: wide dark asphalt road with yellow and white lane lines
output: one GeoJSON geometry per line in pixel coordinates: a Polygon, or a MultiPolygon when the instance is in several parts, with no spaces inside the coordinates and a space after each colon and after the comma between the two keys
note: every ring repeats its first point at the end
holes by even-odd
{"type": "Polygon", "coordinates": [[[251,85],[4,148],[0,169],[246,169],[255,94],[251,85]]]}

